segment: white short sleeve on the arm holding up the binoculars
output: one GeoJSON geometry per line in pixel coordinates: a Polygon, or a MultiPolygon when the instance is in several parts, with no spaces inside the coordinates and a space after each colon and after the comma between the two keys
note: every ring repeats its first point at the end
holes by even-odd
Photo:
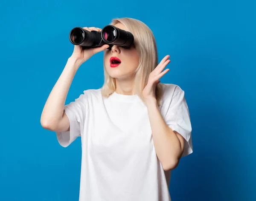
{"type": "Polygon", "coordinates": [[[56,132],[58,142],[61,146],[67,147],[77,137],[81,137],[87,108],[87,95],[85,91],[75,101],[64,106],[64,112],[70,121],[70,131],[56,132]]]}

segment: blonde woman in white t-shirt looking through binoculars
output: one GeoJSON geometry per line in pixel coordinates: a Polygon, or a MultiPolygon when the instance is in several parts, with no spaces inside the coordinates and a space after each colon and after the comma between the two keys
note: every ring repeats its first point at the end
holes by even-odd
{"type": "MultiPolygon", "coordinates": [[[[191,123],[184,91],[160,84],[169,55],[158,64],[154,35],[132,18],[111,25],[134,35],[130,48],[74,47],[41,116],[61,146],[81,136],[80,201],[170,201],[171,170],[192,153],[191,123]],[[105,83],[64,106],[79,66],[104,51],[105,83]],[[111,57],[121,63],[111,67],[111,57]],[[116,58],[116,59],[117,59],[116,58]]],[[[84,27],[88,31],[101,31],[84,27]]]]}

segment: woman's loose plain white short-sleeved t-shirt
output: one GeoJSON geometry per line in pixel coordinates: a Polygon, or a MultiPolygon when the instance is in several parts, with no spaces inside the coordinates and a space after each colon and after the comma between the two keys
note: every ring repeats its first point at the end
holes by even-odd
{"type": "MultiPolygon", "coordinates": [[[[192,153],[191,123],[184,91],[164,85],[160,112],[185,139],[183,156],[192,153]]],[[[70,131],[56,132],[61,146],[81,136],[79,201],[171,201],[171,171],[157,158],[148,111],[137,95],[114,92],[102,98],[101,89],[85,90],[65,105],[70,131]]]]}

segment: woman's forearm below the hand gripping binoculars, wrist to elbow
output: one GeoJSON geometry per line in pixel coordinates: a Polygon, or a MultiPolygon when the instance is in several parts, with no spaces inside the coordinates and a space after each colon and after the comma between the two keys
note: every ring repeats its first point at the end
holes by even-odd
{"type": "Polygon", "coordinates": [[[73,78],[80,66],[76,59],[70,57],[67,60],[60,77],[47,98],[41,114],[42,126],[54,127],[61,120],[67,93],[70,89],[73,78]]]}

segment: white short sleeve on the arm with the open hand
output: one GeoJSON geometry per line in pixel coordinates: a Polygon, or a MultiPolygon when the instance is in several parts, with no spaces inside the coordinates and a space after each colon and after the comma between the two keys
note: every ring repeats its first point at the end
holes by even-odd
{"type": "Polygon", "coordinates": [[[173,131],[182,135],[186,140],[182,157],[191,154],[193,152],[191,137],[192,126],[190,122],[189,109],[182,89],[173,95],[172,100],[168,101],[166,109],[167,111],[164,118],[166,124],[173,131]]]}

